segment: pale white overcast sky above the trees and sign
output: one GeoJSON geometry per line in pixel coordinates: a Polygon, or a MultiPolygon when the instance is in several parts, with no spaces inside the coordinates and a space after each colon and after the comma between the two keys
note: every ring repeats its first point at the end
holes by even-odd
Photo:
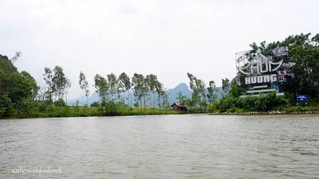
{"type": "Polygon", "coordinates": [[[61,66],[79,96],[82,70],[93,77],[155,74],[164,86],[189,85],[187,73],[221,86],[236,75],[235,53],[252,42],[319,33],[319,1],[0,0],[0,54],[37,81],[61,66]]]}

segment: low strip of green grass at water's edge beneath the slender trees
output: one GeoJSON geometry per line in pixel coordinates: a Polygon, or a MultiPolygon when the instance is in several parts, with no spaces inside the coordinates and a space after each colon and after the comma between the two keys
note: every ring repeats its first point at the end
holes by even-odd
{"type": "Polygon", "coordinates": [[[144,116],[144,115],[167,115],[167,114],[199,114],[205,113],[204,111],[171,111],[155,108],[147,108],[145,111],[142,108],[137,111],[137,108],[122,108],[116,111],[106,111],[105,108],[89,107],[59,107],[54,108],[52,111],[29,111],[27,113],[12,113],[10,117],[6,118],[63,118],[63,117],[97,117],[97,116],[144,116]]]}

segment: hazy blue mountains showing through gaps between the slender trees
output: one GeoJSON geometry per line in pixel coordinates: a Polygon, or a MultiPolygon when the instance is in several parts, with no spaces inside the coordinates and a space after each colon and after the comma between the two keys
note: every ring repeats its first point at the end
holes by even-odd
{"type": "MultiPolygon", "coordinates": [[[[222,89],[221,89],[221,87],[218,87],[218,89],[219,89],[219,92],[217,93],[217,98],[219,99],[219,98],[222,97],[222,95],[221,95],[222,89]]],[[[191,91],[189,89],[189,87],[187,86],[186,83],[180,83],[175,88],[167,90],[167,93],[169,93],[169,95],[168,95],[169,104],[173,104],[175,102],[178,102],[176,100],[176,97],[178,96],[176,93],[178,93],[180,91],[182,91],[182,94],[184,96],[186,96],[188,98],[192,97],[192,92],[193,91],[191,91]]],[[[207,89],[206,89],[205,93],[206,94],[208,93],[207,89]]],[[[128,97],[128,92],[127,91],[124,92],[124,96],[125,96],[125,98],[128,97]]],[[[79,100],[79,104],[82,104],[82,97],[78,97],[77,99],[79,100]]],[[[68,104],[75,104],[75,101],[77,99],[68,100],[68,104]]],[[[89,104],[93,103],[94,101],[98,101],[98,100],[99,100],[99,95],[96,92],[94,92],[91,96],[88,97],[89,104]]],[[[85,104],[85,102],[86,102],[86,97],[83,96],[83,104],[85,104]]],[[[124,102],[125,102],[125,104],[128,104],[128,100],[127,99],[125,99],[124,102]]],[[[131,99],[130,99],[130,103],[131,103],[131,99]]],[[[133,105],[133,103],[135,103],[135,97],[134,97],[133,92],[132,92],[132,103],[131,103],[131,105],[133,105]]],[[[149,102],[146,102],[146,104],[148,105],[149,102]]],[[[155,106],[156,106],[156,104],[157,104],[157,102],[155,102],[155,106]]]]}

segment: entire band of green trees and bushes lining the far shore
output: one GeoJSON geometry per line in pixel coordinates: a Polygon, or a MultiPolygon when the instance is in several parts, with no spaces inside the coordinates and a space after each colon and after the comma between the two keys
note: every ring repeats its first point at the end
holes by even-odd
{"type": "Polygon", "coordinates": [[[319,104],[319,34],[310,38],[310,33],[293,35],[284,41],[250,44],[253,51],[258,48],[268,54],[273,47],[289,48],[286,62],[293,62],[293,80],[280,85],[285,96],[269,93],[258,97],[245,97],[247,88],[238,87],[235,78],[222,79],[221,99],[217,99],[218,88],[214,81],[208,86],[196,76],[187,73],[191,98],[177,93],[176,101],[187,106],[187,111],[172,111],[168,103],[167,89],[154,74],[126,73],[116,76],[96,74],[94,84],[88,84],[85,74],[79,73],[78,85],[86,97],[85,107],[79,103],[68,106],[67,95],[71,81],[65,76],[63,68],[44,68],[43,82],[36,82],[26,71],[19,72],[14,63],[19,61],[21,52],[9,59],[0,55],[0,118],[38,118],[38,117],[80,117],[80,116],[124,116],[184,113],[244,113],[250,111],[313,111],[319,104]],[[99,100],[88,104],[89,85],[95,87],[99,100]],[[296,107],[296,95],[308,95],[308,105],[300,103],[296,107]],[[134,100],[132,100],[134,96],[134,100]],[[65,99],[65,100],[64,100],[65,99]],[[124,103],[125,100],[127,104],[124,103]],[[90,107],[89,107],[90,106],[90,107]]]}

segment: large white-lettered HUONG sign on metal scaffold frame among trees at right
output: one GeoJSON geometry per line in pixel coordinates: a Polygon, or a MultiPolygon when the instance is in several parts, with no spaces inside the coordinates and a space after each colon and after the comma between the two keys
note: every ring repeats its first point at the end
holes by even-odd
{"type": "Polygon", "coordinates": [[[277,95],[284,95],[280,93],[278,84],[286,82],[287,77],[294,77],[290,68],[295,63],[287,60],[288,48],[275,47],[269,52],[263,55],[262,51],[257,49],[236,54],[236,83],[238,86],[247,87],[248,94],[276,91],[277,95]]]}

